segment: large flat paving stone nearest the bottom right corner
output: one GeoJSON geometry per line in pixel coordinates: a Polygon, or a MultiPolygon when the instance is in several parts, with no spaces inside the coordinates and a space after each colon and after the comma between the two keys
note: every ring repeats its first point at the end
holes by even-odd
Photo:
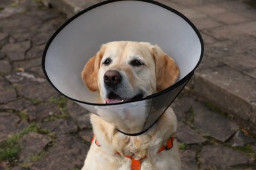
{"type": "Polygon", "coordinates": [[[219,169],[249,163],[251,158],[231,148],[220,145],[203,146],[200,161],[202,169],[219,169]]]}

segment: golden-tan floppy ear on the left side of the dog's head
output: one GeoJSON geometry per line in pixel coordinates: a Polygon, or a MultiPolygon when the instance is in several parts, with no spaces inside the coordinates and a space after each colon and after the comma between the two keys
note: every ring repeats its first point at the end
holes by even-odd
{"type": "Polygon", "coordinates": [[[100,69],[100,61],[104,52],[105,48],[102,46],[100,51],[85,64],[81,73],[83,82],[91,92],[96,92],[98,90],[98,69],[100,69]]]}

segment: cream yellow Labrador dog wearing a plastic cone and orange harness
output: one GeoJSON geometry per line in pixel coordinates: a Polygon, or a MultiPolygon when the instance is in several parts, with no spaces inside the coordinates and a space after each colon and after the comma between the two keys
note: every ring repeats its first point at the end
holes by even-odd
{"type": "MultiPolygon", "coordinates": [[[[119,103],[168,88],[179,78],[179,67],[158,45],[116,41],[101,46],[86,63],[81,77],[91,92],[98,93],[99,103],[119,103]]],[[[171,141],[171,149],[160,152],[177,129],[171,107],[154,126],[137,136],[124,135],[95,114],[91,114],[91,124],[95,139],[83,170],[181,169],[176,140],[171,141]]]]}

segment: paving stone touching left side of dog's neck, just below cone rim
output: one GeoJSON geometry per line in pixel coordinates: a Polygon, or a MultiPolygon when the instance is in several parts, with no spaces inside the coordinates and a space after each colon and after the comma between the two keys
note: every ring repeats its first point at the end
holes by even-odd
{"type": "Polygon", "coordinates": [[[77,105],[73,101],[68,101],[68,112],[81,129],[91,128],[90,114],[88,110],[77,105]]]}

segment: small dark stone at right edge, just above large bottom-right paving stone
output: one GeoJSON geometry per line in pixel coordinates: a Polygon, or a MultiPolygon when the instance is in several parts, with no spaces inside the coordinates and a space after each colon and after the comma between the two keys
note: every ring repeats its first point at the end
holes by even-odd
{"type": "Polygon", "coordinates": [[[230,140],[232,146],[245,146],[247,144],[256,144],[256,139],[247,137],[243,131],[239,130],[236,132],[234,137],[230,140]]]}

